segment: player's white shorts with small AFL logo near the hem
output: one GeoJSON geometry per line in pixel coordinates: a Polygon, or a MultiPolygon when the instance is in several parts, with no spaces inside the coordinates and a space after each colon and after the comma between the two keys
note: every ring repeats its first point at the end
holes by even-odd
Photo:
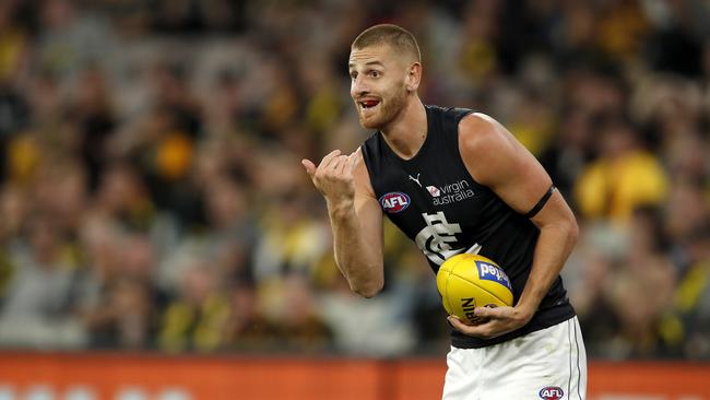
{"type": "Polygon", "coordinates": [[[587,352],[577,317],[482,349],[451,348],[445,400],[584,400],[587,352]]]}

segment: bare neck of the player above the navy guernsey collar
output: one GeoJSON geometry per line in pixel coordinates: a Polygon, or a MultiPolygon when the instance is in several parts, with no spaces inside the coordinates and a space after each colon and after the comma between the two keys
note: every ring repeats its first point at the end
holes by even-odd
{"type": "Polygon", "coordinates": [[[422,149],[427,136],[426,109],[415,96],[388,126],[380,129],[384,141],[392,151],[404,160],[410,160],[422,149]]]}

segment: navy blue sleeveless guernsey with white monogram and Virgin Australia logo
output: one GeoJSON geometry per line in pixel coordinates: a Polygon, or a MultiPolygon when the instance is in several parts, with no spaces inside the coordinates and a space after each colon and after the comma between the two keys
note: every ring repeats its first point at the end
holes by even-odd
{"type": "MultiPolygon", "coordinates": [[[[459,121],[470,113],[426,106],[427,134],[414,157],[398,156],[380,132],[365,141],[363,157],[382,212],[417,244],[434,272],[453,255],[477,252],[506,271],[517,304],[530,274],[540,231],[469,174],[459,152],[459,121]]],[[[572,316],[575,310],[558,277],[524,327],[490,340],[451,329],[451,344],[483,348],[572,316]]]]}

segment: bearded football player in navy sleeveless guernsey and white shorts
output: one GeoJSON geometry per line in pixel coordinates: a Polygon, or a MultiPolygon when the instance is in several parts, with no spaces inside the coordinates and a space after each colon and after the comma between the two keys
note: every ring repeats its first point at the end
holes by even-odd
{"type": "Polygon", "coordinates": [[[475,326],[448,317],[443,398],[584,399],[584,346],[559,278],[577,223],[549,176],[490,117],[422,103],[421,55],[407,31],[364,31],[348,69],[360,125],[378,132],[353,154],[303,164],[326,198],[352,290],[371,297],[382,287],[382,214],[435,272],[455,254],[490,258],[510,277],[514,306],[476,307],[475,326]]]}

